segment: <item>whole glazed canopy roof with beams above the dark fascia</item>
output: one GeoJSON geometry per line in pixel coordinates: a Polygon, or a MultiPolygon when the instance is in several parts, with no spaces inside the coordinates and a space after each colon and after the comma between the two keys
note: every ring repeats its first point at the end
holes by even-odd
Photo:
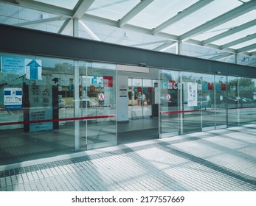
{"type": "MultiPolygon", "coordinates": [[[[1,24],[73,35],[72,18],[78,18],[80,38],[173,53],[182,40],[199,53],[256,57],[256,0],[0,1],[1,24]]],[[[181,54],[198,56],[190,50],[182,46],[181,54]]]]}

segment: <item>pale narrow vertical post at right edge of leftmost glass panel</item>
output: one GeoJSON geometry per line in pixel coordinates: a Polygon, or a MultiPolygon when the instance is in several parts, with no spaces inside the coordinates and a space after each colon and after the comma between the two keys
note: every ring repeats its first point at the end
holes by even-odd
{"type": "MultiPolygon", "coordinates": [[[[79,67],[78,61],[74,61],[74,118],[79,117],[79,67]]],[[[80,122],[75,121],[75,151],[80,149],[80,122]]]]}

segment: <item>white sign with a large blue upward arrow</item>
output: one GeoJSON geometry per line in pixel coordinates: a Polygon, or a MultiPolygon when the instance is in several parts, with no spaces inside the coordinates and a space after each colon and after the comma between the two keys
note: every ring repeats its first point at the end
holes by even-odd
{"type": "Polygon", "coordinates": [[[42,60],[25,59],[25,65],[27,79],[42,79],[42,60]]]}

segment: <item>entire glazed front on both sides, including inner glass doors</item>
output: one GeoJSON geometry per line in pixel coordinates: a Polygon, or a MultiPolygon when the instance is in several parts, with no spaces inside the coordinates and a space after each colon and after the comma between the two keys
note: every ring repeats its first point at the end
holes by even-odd
{"type": "Polygon", "coordinates": [[[0,56],[0,165],[116,145],[117,110],[157,116],[160,138],[256,123],[256,79],[159,68],[117,108],[115,64],[0,56]]]}

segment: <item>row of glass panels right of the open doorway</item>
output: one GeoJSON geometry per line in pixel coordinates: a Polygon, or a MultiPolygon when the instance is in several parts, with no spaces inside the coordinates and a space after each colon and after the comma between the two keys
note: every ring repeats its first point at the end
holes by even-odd
{"type": "Polygon", "coordinates": [[[160,137],[254,124],[256,79],[159,70],[160,137]]]}

